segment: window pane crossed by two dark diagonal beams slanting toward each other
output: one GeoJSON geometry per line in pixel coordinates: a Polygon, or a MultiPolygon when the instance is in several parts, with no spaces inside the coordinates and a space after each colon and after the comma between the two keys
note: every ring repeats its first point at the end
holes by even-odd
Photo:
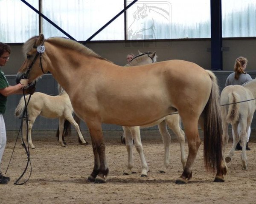
{"type": "MultiPolygon", "coordinates": [[[[122,0],[43,0],[43,14],[76,40],[87,40],[123,9],[122,0]]],[[[124,40],[123,14],[92,40],[124,40]]],[[[63,36],[43,20],[45,37],[63,36]]]]}

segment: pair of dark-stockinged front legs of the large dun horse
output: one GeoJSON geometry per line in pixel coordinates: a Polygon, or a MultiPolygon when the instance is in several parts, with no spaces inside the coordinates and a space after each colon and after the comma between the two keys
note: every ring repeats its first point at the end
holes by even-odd
{"type": "Polygon", "coordinates": [[[94,153],[93,172],[88,177],[88,181],[94,181],[95,183],[105,183],[109,170],[106,161],[106,147],[103,139],[101,123],[90,121],[87,122],[87,127],[90,132],[94,153]]]}

